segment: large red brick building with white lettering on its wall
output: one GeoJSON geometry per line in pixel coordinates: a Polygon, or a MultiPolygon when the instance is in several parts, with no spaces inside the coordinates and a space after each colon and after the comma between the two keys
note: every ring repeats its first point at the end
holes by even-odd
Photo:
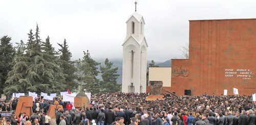
{"type": "MultiPolygon", "coordinates": [[[[256,19],[189,21],[189,59],[172,59],[177,95],[239,95],[256,92],[256,19]]],[[[163,92],[163,91],[162,91],[163,92]]]]}

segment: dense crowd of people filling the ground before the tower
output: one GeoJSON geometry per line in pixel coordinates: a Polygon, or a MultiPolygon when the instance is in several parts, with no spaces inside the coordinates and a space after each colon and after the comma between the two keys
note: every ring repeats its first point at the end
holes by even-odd
{"type": "MultiPolygon", "coordinates": [[[[91,106],[74,109],[70,102],[56,98],[63,109],[55,112],[56,119],[47,115],[54,101],[33,102],[34,114],[20,113],[2,117],[2,124],[59,125],[191,125],[191,124],[255,124],[256,102],[251,96],[181,96],[166,93],[163,99],[146,101],[147,93],[101,93],[91,97],[91,106]]],[[[3,101],[2,111],[14,110],[17,100],[3,101]],[[4,109],[4,110],[3,110],[4,109]]],[[[13,113],[14,114],[14,113],[13,113]]]]}

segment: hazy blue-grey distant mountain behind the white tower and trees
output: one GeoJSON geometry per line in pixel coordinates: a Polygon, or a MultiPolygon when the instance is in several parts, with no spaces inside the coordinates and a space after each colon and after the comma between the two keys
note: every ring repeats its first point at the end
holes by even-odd
{"type": "MultiPolygon", "coordinates": [[[[100,62],[100,65],[103,66],[105,59],[95,59],[97,62],[100,62]]],[[[109,59],[111,62],[113,62],[113,68],[118,67],[117,74],[120,76],[117,78],[117,83],[121,84],[122,83],[122,59],[109,59]]],[[[147,60],[147,66],[148,64],[151,63],[151,60],[147,60]]],[[[171,67],[172,66],[172,60],[166,60],[164,62],[155,62],[155,64],[159,67],[171,67]]],[[[98,66],[99,68],[99,66],[98,66]]],[[[100,77],[101,74],[99,74],[98,78],[101,79],[100,77]]]]}

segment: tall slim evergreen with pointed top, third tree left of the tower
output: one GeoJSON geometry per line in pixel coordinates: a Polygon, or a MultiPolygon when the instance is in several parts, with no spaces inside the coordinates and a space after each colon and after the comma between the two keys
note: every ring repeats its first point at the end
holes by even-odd
{"type": "Polygon", "coordinates": [[[64,84],[67,85],[65,89],[74,90],[78,87],[76,79],[76,67],[74,66],[75,61],[71,61],[72,54],[69,51],[69,47],[67,45],[66,39],[64,39],[63,44],[58,44],[61,48],[60,51],[60,68],[63,74],[65,74],[65,82],[64,84]]]}

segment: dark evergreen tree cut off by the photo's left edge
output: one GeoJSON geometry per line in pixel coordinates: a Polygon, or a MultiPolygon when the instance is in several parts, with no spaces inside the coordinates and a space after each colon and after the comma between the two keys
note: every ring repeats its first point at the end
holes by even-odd
{"type": "Polygon", "coordinates": [[[11,37],[4,36],[0,41],[0,93],[3,93],[8,72],[13,66],[11,62],[15,57],[15,49],[10,43],[11,37]]]}

